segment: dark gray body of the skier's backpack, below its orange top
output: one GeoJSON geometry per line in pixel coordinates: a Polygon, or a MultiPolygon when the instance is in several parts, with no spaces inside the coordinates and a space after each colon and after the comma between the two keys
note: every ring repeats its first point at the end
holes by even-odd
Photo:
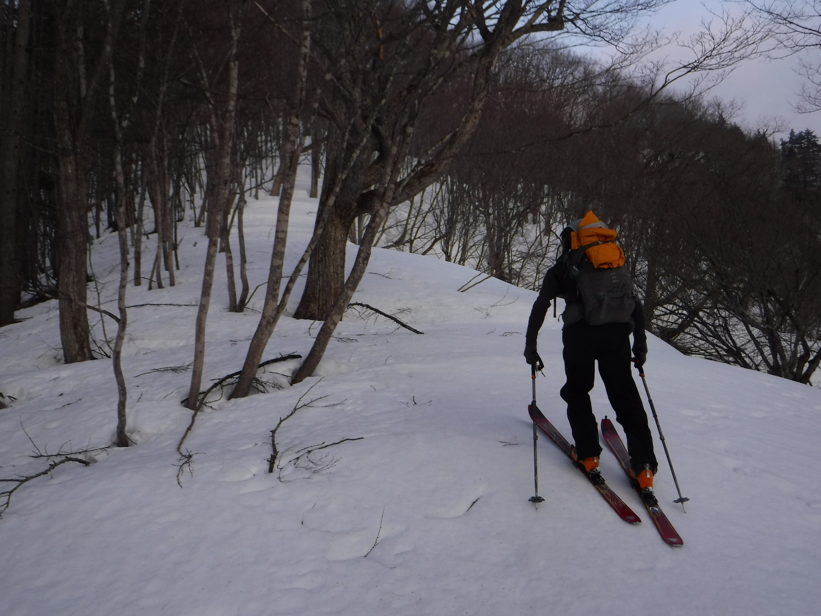
{"type": "Polygon", "coordinates": [[[580,314],[580,304],[568,304],[562,319],[568,325],[582,318],[591,325],[629,322],[635,308],[635,288],[626,266],[595,268],[585,255],[588,248],[576,248],[565,256],[565,267],[576,281],[584,315],[580,314]]]}

